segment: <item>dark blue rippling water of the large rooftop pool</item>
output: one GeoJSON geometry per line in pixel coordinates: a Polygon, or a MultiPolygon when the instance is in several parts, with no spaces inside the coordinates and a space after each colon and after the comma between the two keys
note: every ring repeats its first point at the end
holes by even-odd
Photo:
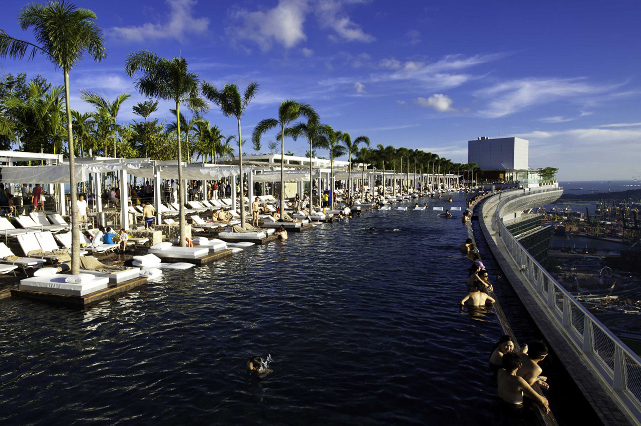
{"type": "Polygon", "coordinates": [[[466,237],[431,210],[364,212],[88,310],[0,301],[0,423],[511,424],[495,313],[459,306],[466,237]]]}

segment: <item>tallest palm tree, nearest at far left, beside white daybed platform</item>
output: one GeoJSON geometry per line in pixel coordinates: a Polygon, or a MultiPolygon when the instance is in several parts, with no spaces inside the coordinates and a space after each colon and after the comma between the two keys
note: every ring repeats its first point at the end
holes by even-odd
{"type": "MultiPolygon", "coordinates": [[[[33,59],[37,53],[44,54],[57,68],[62,68],[65,77],[65,108],[67,110],[67,139],[69,141],[69,189],[71,200],[76,200],[76,162],[74,161],[74,136],[71,122],[69,95],[69,71],[88,53],[94,61],[106,57],[102,30],[97,26],[96,13],[78,9],[65,1],[31,3],[22,8],[19,15],[20,28],[33,26],[39,45],[18,40],[0,30],[0,57],[33,59]]],[[[78,207],[71,203],[71,273],[80,269],[80,233],[78,207]]]]}

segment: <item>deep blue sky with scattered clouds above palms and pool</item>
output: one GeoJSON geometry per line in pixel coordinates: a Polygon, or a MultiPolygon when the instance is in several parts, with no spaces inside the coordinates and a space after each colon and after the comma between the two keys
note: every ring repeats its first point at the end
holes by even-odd
{"type": "MultiPolygon", "coordinates": [[[[17,26],[24,2],[5,0],[0,28],[17,26]]],[[[126,55],[181,54],[222,87],[260,83],[242,122],[276,116],[285,99],[308,102],[322,122],[377,145],[407,146],[467,162],[467,140],[529,139],[529,166],[563,180],[641,176],[641,31],[638,1],[204,0],[78,1],[94,10],[108,57],[72,70],[79,90],[142,96],[124,73],[126,55]]],[[[42,74],[44,58],[0,61],[2,72],[42,74]]],[[[155,114],[171,118],[168,103],[155,114]]],[[[224,134],[235,120],[206,114],[224,134]]],[[[263,152],[267,141],[263,139],[263,152]]],[[[301,141],[286,150],[303,155],[301,141]]],[[[251,151],[251,148],[250,148],[251,151]]],[[[320,155],[326,155],[320,153],[320,155]]]]}

